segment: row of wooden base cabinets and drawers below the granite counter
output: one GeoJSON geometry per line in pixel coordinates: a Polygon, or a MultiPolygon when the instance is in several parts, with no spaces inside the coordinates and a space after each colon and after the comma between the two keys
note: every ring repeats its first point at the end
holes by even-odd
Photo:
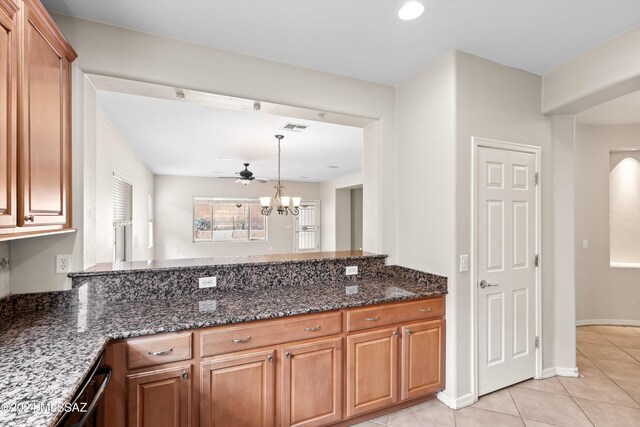
{"type": "Polygon", "coordinates": [[[346,426],[424,402],[444,388],[442,310],[433,297],[110,343],[103,425],[346,426]]]}

